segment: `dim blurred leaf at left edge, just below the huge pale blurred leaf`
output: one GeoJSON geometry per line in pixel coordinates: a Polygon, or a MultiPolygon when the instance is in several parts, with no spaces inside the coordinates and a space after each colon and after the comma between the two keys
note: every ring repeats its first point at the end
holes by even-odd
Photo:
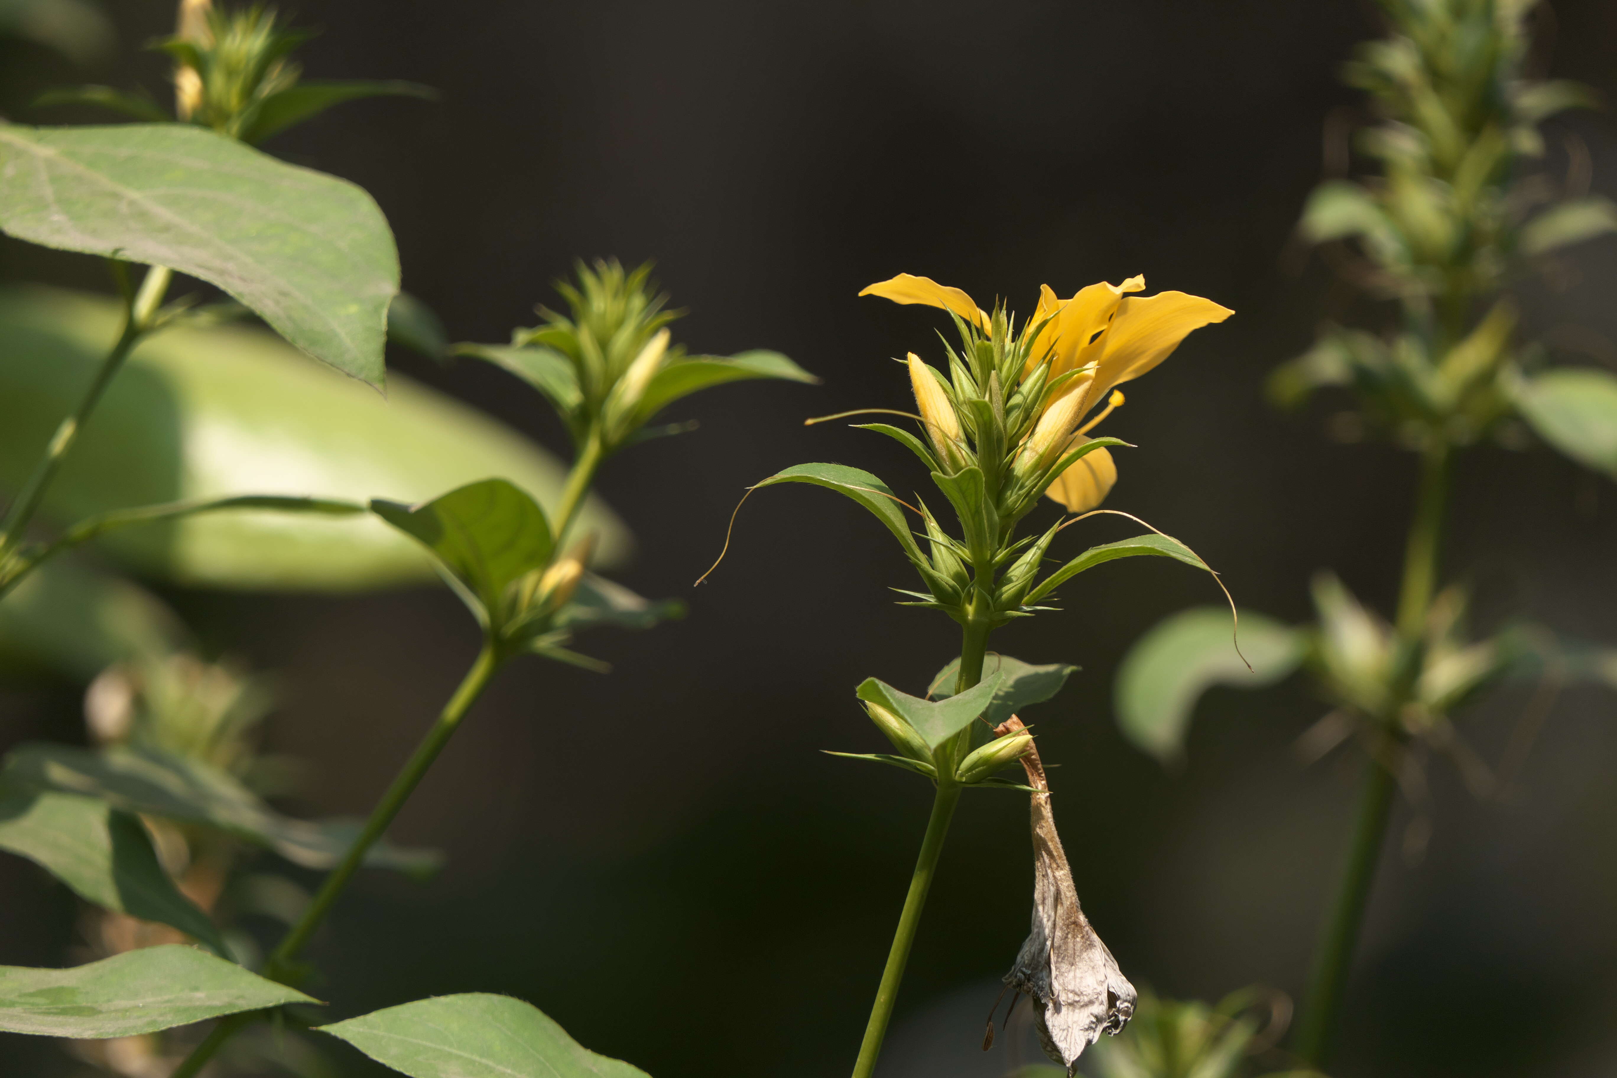
{"type": "Polygon", "coordinates": [[[34,569],[0,601],[0,663],[84,684],[113,663],[175,651],[188,637],[146,588],[68,561],[34,569]]]}

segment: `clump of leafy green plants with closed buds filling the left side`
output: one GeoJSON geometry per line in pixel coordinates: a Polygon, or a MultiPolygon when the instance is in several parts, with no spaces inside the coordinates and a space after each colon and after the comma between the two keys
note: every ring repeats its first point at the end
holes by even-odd
{"type": "MultiPolygon", "coordinates": [[[[399,302],[398,254],[375,202],[247,145],[340,100],[416,92],[304,82],[291,60],[302,37],[270,8],[213,11],[184,0],[179,32],[163,45],[176,61],[178,120],[92,89],[70,97],[150,123],[0,124],[0,229],[107,259],[121,296],[115,310],[45,289],[0,296],[0,477],[15,482],[0,519],[0,658],[91,682],[95,740],[5,756],[0,849],[37,861],[100,910],[89,933],[97,960],[0,966],[0,1031],[100,1041],[105,1051],[91,1057],[129,1078],[194,1078],[259,1020],[277,1030],[319,1021],[301,991],[314,975],[304,947],[359,868],[437,866],[383,834],[493,676],[522,655],[605,669],[572,650],[579,632],[648,629],[679,613],[590,571],[600,546],[626,546],[590,496],[602,462],[655,433],[647,422],[699,390],[813,380],[775,352],[689,357],[671,343],[674,315],[645,270],[581,265],[561,286],[568,317],[545,310],[545,323],[519,330],[511,347],[461,349],[496,359],[556,404],[576,438],[561,469],[406,381],[378,419],[364,411],[380,407],[369,390],[344,386],[361,404],[331,391],[328,373],[310,381],[307,364],[288,362],[262,331],[223,326],[251,312],[377,390],[390,325],[435,359],[448,356],[432,314],[399,302]],[[170,301],[178,275],[234,302],[170,301]],[[113,338],[110,349],[102,335],[113,338]],[[63,411],[53,433],[32,430],[40,414],[63,411]],[[86,436],[102,427],[107,441],[86,436]],[[40,441],[32,469],[18,467],[40,441]],[[260,480],[268,490],[243,493],[260,480]],[[199,520],[230,525],[199,530],[199,520]],[[116,541],[141,533],[160,538],[116,541]],[[401,541],[414,550],[404,561],[401,541]],[[375,587],[430,561],[475,616],[482,648],[361,824],[293,819],[265,802],[285,790],[251,743],[265,708],[257,682],[204,661],[137,585],[76,564],[73,551],[87,543],[142,572],[213,587],[375,587]],[[251,905],[233,897],[249,847],[327,873],[312,895],[260,874],[255,894],[268,905],[257,912],[286,923],[268,954],[222,931],[226,907],[251,905]],[[201,1042],[168,1034],[209,1018],[223,1020],[201,1042]]],[[[417,1076],[467,1057],[498,1073],[640,1073],[501,996],[417,1000],[320,1030],[417,1076]]],[[[306,1042],[277,1044],[260,1047],[278,1067],[322,1073],[306,1042]]],[[[241,1042],[225,1060],[254,1073],[264,1062],[243,1055],[241,1042]]]]}

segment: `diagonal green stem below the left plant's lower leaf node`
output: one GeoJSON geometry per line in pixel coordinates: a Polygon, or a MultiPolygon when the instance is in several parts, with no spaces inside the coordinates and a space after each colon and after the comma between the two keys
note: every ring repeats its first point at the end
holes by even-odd
{"type": "MultiPolygon", "coordinates": [[[[291,983],[291,979],[294,979],[294,960],[298,958],[298,954],[304,949],[304,945],[307,945],[315,929],[320,928],[320,923],[325,921],[331,907],[336,905],[343,889],[348,887],[348,882],[364,863],[365,852],[370,850],[377,839],[380,839],[388,829],[393,818],[398,816],[399,810],[404,806],[404,802],[409,800],[409,795],[416,790],[416,785],[420,784],[422,776],[427,774],[427,769],[432,768],[438,753],[443,752],[443,747],[450,742],[456,727],[459,727],[461,719],[466,718],[466,713],[477,701],[477,697],[482,695],[483,688],[500,669],[500,663],[501,655],[498,646],[493,642],[485,643],[483,650],[477,653],[477,661],[472,663],[472,669],[467,671],[459,688],[456,688],[454,695],[450,697],[450,703],[443,706],[443,711],[438,714],[438,721],[432,724],[432,729],[427,731],[427,737],[424,737],[420,745],[416,747],[416,752],[393,779],[386,794],[382,795],[382,800],[377,802],[377,806],[370,811],[370,818],[365,819],[365,826],[354,840],[354,845],[348,849],[341,863],[331,870],[330,876],[325,878],[325,882],[320,884],[320,891],[315,892],[302,916],[298,918],[298,923],[286,933],[280,945],[264,965],[264,976],[281,983],[291,983]]],[[[191,1078],[196,1075],[243,1025],[246,1025],[246,1020],[239,1017],[238,1020],[222,1021],[213,1028],[213,1033],[209,1034],[205,1041],[197,1044],[171,1078],[191,1078]]]]}

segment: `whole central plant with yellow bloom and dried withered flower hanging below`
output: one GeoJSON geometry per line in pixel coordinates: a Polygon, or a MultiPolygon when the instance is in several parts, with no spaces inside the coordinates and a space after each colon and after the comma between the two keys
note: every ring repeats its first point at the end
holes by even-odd
{"type": "Polygon", "coordinates": [[[1012,619],[1051,609],[1043,603],[1058,587],[1106,561],[1151,554],[1208,571],[1188,546],[1151,530],[1091,546],[1045,574],[1064,527],[1114,512],[1096,506],[1117,478],[1109,448],[1125,443],[1090,438],[1088,432],[1122,404],[1117,386],[1155,368],[1193,330],[1231,314],[1185,293],[1135,294],[1143,289],[1145,280],[1135,276],[1121,286],[1091,284],[1062,301],[1046,286],[1033,317],[1019,320],[1003,304],[990,314],[964,291],[923,276],[901,273],[872,284],[860,294],[939,307],[954,323],[959,344],[944,339],[943,370],[914,352],[904,364],[918,414],[896,414],[918,423],[917,433],[891,423],[863,425],[922,462],[954,525],[918,496],[910,504],[870,472],[841,464],[799,464],[752,488],[813,483],[859,503],[893,533],[920,575],[925,592],[906,592],[914,598],[906,604],[939,611],[960,627],[960,653],[939,671],[925,698],[875,677],[857,688],[897,755],[839,753],[918,774],[933,785],[931,816],[854,1078],[875,1072],[949,821],[960,794],[973,787],[1032,794],[1033,926],[1006,983],[1033,999],[1046,1052],[1070,1068],[1103,1031],[1116,1033],[1134,1013],[1134,987],[1079,908],[1051,795],[1032,755],[1033,737],[1015,714],[1051,698],[1075,667],[994,655],[988,638],[1012,619]],[[1022,520],[1046,496],[1064,512],[1019,537],[1022,520]],[[917,519],[915,532],[906,511],[917,519]],[[996,776],[1017,760],[1035,776],[1033,785],[996,776]]]}

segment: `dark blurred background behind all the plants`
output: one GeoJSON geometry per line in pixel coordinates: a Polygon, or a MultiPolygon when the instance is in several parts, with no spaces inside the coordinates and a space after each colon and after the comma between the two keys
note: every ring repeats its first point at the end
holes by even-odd
{"type": "MultiPolygon", "coordinates": [[[[97,71],[6,44],[0,100],[15,118],[60,121],[23,103],[86,76],[163,92],[162,63],[133,47],[165,32],[171,10],[113,5],[128,58],[97,71]]],[[[841,461],[894,488],[923,482],[884,440],[800,425],[902,407],[888,357],[938,357],[936,314],[855,299],[870,281],[923,273],[1025,310],[1043,281],[1070,294],[1145,273],[1153,291],[1234,307],[1108,423],[1140,446],[1119,453],[1108,504],[1192,543],[1245,606],[1302,621],[1308,575],[1331,566],[1389,609],[1410,459],[1332,443],[1328,411],[1277,415],[1260,396],[1263,375],[1342,309],[1321,262],[1287,249],[1321,176],[1326,116],[1360,100],[1337,65],[1378,32],[1368,3],[306,0],[298,13],[323,27],[304,50],[309,76],[443,91],[437,105],[348,105],[267,149],[375,194],[406,288],[453,338],[500,341],[530,323],[576,257],[657,259],[690,310],[676,339],[776,347],[825,378],[695,398],[678,417],[699,419],[697,433],[605,472],[602,493],[640,538],[624,580],[687,600],[690,617],[589,640],[618,667],[606,677],[537,661],[501,677],[396,829],[443,847],[451,871],[429,886],[364,876],[310,950],[336,1017],[495,991],[658,1078],[847,1068],[928,790],[818,750],[880,750],[854,685],[875,674],[920,690],[954,655],[952,625],[894,606],[884,588],[912,583],[889,537],[808,488],[750,499],[728,561],[708,585],[690,582],[742,488],[784,465],[841,461]]],[[[1544,27],[1552,74],[1617,97],[1617,6],[1559,0],[1544,27]]],[[[1562,170],[1564,137],[1580,137],[1596,189],[1612,191],[1612,123],[1554,124],[1546,165],[1562,170]]],[[[3,260],[6,276],[102,286],[89,259],[6,242],[3,260]]],[[[1562,288],[1525,289],[1531,328],[1617,331],[1617,242],[1567,262],[1562,288]]],[[[563,448],[538,398],[503,373],[395,360],[563,448]]],[[[1480,627],[1525,614],[1617,640],[1614,495],[1546,451],[1467,454],[1447,566],[1473,583],[1480,627]]],[[[1083,527],[1072,550],[1130,533],[1083,527]]],[[[170,598],[215,648],[280,676],[267,747],[314,763],[293,805],[307,813],[364,813],[475,650],[446,592],[170,598]]],[[[1252,983],[1295,994],[1360,758],[1295,763],[1292,739],[1324,710],[1295,682],[1214,692],[1179,774],[1111,719],[1127,645],[1216,598],[1184,567],[1119,562],[996,646],[1085,667],[1033,718],[1045,758],[1062,764],[1058,818],[1085,908],[1125,973],[1182,997],[1252,983]]],[[[1528,695],[1510,688],[1465,716],[1489,760],[1528,695]]],[[[1614,711],[1611,695],[1567,692],[1507,803],[1478,802],[1434,766],[1434,837],[1418,863],[1397,853],[1400,808],[1337,1073],[1612,1073],[1614,711]]],[[[3,697],[0,748],[37,737],[81,740],[76,690],[3,697]]],[[[975,1041],[1027,931],[1028,894],[1025,803],[969,797],[884,1075],[1004,1070],[975,1041]]],[[[0,908],[0,962],[65,962],[63,891],[3,858],[0,908]]],[[[0,1059],[66,1068],[53,1046],[21,1038],[0,1042],[0,1059]]]]}

